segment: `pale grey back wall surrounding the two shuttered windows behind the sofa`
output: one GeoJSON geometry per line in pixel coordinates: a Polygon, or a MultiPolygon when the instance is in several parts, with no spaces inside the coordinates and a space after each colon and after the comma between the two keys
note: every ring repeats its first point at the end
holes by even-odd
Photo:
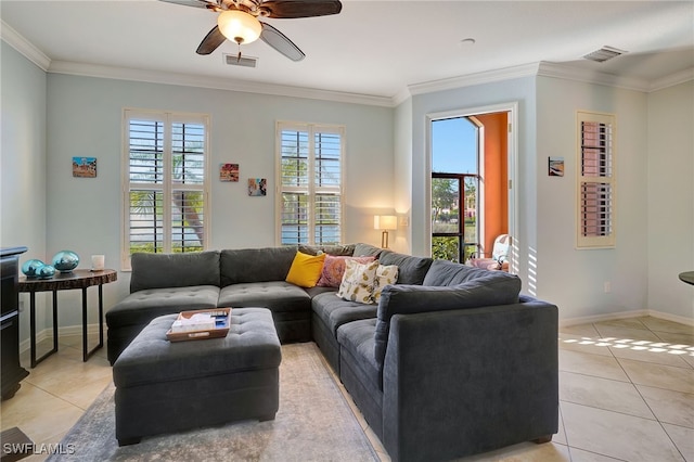
{"type": "MultiPolygon", "coordinates": [[[[105,254],[106,267],[119,269],[124,107],[210,114],[210,248],[275,244],[274,195],[249,197],[245,183],[247,178],[267,178],[274,191],[275,120],[345,125],[345,240],[380,242],[372,214],[377,207],[393,207],[393,110],[49,74],[49,257],[68,248],[82,257],[80,267],[88,268],[91,254],[105,254]],[[73,178],[73,156],[97,157],[98,177],[73,178]],[[220,182],[221,163],[239,163],[241,181],[220,182]]],[[[129,273],[120,272],[117,283],[104,286],[106,309],[127,295],[128,285],[129,273]]],[[[79,292],[61,294],[61,325],[78,325],[79,315],[79,292]]]]}

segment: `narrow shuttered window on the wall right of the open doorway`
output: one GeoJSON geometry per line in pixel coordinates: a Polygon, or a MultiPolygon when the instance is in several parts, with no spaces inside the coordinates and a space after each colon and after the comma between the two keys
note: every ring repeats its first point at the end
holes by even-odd
{"type": "Polygon", "coordinates": [[[615,246],[615,116],[578,112],[578,248],[615,246]]]}

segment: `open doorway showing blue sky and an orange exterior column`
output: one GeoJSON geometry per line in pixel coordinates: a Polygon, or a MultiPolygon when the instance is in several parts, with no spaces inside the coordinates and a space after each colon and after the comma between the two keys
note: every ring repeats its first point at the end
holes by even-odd
{"type": "Polygon", "coordinates": [[[465,262],[514,234],[516,114],[512,103],[428,116],[434,258],[465,262]]]}

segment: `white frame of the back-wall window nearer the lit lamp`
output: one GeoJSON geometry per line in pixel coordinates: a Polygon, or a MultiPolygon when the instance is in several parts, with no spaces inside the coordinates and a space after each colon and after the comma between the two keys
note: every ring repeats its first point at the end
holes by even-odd
{"type": "MultiPolygon", "coordinates": [[[[303,245],[322,245],[316,242],[317,222],[314,217],[317,196],[322,194],[336,195],[339,197],[339,216],[338,216],[338,241],[336,244],[345,242],[345,152],[346,152],[346,127],[344,125],[331,124],[311,124],[299,121],[278,120],[275,123],[275,244],[278,246],[294,245],[284,244],[282,242],[283,228],[283,194],[298,193],[306,194],[307,204],[307,242],[299,242],[303,245]],[[282,181],[282,133],[284,131],[306,132],[308,138],[308,170],[312,174],[308,176],[306,187],[303,185],[284,185],[282,181]],[[337,187],[317,187],[317,151],[314,146],[314,137],[318,133],[330,133],[339,136],[339,184],[337,187]]],[[[300,241],[300,240],[299,240],[300,241]]],[[[332,245],[332,244],[323,244],[332,245]]]]}

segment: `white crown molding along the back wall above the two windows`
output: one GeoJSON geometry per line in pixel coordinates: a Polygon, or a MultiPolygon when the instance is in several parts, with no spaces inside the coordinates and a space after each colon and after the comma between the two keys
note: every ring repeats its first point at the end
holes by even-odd
{"type": "Polygon", "coordinates": [[[191,74],[165,73],[160,70],[133,69],[99,64],[52,61],[48,69],[52,74],[69,74],[85,77],[134,80],[150,84],[179,85],[184,87],[210,88],[216,90],[241,91],[246,93],[272,94],[279,97],[307,98],[340,103],[368,104],[393,107],[393,99],[368,94],[319,90],[312,88],[261,84],[249,80],[220,79],[191,74]]]}

